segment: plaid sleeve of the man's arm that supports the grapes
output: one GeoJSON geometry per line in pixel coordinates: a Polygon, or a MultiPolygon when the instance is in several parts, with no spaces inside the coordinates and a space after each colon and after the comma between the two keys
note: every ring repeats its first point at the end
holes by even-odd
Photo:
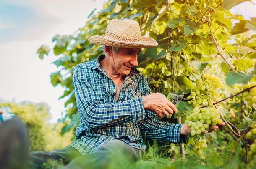
{"type": "MultiPolygon", "coordinates": [[[[145,83],[145,90],[143,96],[151,92],[146,78],[143,77],[145,83]]],[[[159,121],[156,118],[156,113],[153,111],[146,111],[146,119],[138,121],[141,134],[146,139],[154,139],[157,141],[167,141],[171,143],[187,143],[187,136],[181,135],[180,130],[183,124],[172,124],[164,121],[159,121]]]]}

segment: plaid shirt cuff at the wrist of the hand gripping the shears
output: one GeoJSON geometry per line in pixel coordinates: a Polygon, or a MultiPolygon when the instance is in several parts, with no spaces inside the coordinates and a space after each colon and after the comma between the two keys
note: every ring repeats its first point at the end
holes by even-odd
{"type": "Polygon", "coordinates": [[[135,98],[130,101],[131,105],[131,121],[144,120],[145,109],[141,97],[135,98]]]}

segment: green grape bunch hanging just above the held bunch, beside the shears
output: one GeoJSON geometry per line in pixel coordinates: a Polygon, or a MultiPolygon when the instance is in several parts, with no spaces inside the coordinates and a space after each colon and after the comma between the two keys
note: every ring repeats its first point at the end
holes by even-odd
{"type": "Polygon", "coordinates": [[[193,100],[188,103],[193,103],[195,107],[200,105],[206,106],[208,104],[213,106],[212,103],[219,100],[220,94],[217,91],[223,86],[220,78],[205,74],[204,81],[199,78],[196,81],[194,91],[191,92],[191,97],[188,97],[188,99],[193,98],[193,100]]]}

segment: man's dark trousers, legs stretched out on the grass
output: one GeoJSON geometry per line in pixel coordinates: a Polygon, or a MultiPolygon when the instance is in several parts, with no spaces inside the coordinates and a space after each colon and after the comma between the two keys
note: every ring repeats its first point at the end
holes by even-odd
{"type": "Polygon", "coordinates": [[[62,169],[122,169],[141,159],[142,151],[123,141],[112,140],[93,153],[81,155],[71,146],[56,151],[30,153],[29,169],[45,169],[52,160],[62,162],[62,169]]]}

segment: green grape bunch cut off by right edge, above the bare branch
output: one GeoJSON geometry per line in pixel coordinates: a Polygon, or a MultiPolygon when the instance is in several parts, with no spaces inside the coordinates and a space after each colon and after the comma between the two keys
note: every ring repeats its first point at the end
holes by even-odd
{"type": "MultiPolygon", "coordinates": [[[[256,81],[250,83],[248,82],[247,84],[243,84],[242,88],[246,89],[246,88],[250,88],[251,86],[255,86],[256,85],[256,81]]],[[[253,103],[256,103],[256,87],[252,88],[250,90],[250,92],[244,92],[243,96],[245,97],[245,101],[247,101],[247,105],[248,106],[252,106],[253,103]]]]}

